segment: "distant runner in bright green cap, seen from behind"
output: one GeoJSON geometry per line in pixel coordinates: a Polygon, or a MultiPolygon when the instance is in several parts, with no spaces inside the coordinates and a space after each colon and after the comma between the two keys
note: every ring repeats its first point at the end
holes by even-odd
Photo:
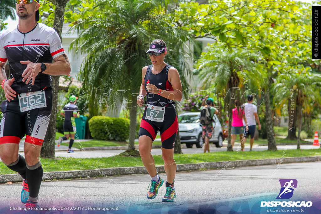
{"type": "Polygon", "coordinates": [[[73,146],[74,140],[75,140],[75,133],[76,133],[76,124],[75,124],[75,119],[79,117],[79,112],[77,114],[78,106],[76,106],[76,100],[78,97],[75,95],[72,95],[69,97],[69,103],[65,105],[65,107],[61,110],[60,115],[65,117],[64,121],[64,137],[59,137],[57,144],[60,146],[61,141],[65,141],[69,139],[70,136],[70,141],[69,141],[69,147],[67,152],[72,153],[74,152],[71,150],[71,147],[73,146]]]}

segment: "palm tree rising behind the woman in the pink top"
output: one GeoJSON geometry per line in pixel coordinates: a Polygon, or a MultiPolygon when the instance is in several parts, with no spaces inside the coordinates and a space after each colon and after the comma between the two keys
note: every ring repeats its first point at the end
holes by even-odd
{"type": "MultiPolygon", "coordinates": [[[[216,44],[214,45],[216,46],[216,44]]],[[[257,72],[256,63],[254,63],[258,60],[258,56],[249,51],[221,52],[222,49],[214,47],[214,45],[212,50],[209,50],[199,59],[197,68],[201,70],[200,77],[204,80],[203,87],[214,85],[215,88],[222,88],[228,92],[226,98],[224,98],[224,107],[227,107],[229,133],[231,133],[232,108],[236,100],[241,100],[235,90],[240,88],[245,91],[251,89],[251,86],[259,89],[259,76],[261,74],[257,72]],[[216,50],[213,50],[213,48],[216,48],[216,50]]],[[[233,151],[230,134],[227,150],[233,151]]]]}

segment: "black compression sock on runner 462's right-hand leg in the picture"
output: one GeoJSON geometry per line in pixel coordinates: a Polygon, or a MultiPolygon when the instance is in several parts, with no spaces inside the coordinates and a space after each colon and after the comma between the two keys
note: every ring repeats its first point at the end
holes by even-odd
{"type": "Polygon", "coordinates": [[[43,175],[43,169],[40,163],[37,163],[34,166],[27,166],[26,175],[29,187],[29,197],[37,201],[43,175]]]}

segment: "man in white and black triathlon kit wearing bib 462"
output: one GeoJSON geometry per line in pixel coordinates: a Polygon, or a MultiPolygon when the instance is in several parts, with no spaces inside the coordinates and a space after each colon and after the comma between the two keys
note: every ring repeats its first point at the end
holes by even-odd
{"type": "Polygon", "coordinates": [[[39,154],[52,107],[50,75],[70,73],[70,64],[57,32],[39,21],[39,0],[17,0],[19,23],[0,35],[0,82],[6,100],[0,124],[0,158],[23,178],[21,201],[39,207],[43,170],[39,154]],[[54,63],[52,61],[54,60],[54,63]],[[8,61],[10,79],[4,66],[8,61]],[[24,157],[19,142],[26,134],[24,157]]]}

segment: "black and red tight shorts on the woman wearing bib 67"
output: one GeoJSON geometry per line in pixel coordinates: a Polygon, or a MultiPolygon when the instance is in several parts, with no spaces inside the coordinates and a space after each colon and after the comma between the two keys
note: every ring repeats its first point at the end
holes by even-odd
{"type": "MultiPolygon", "coordinates": [[[[161,147],[164,149],[173,149],[175,144],[176,135],[178,132],[178,119],[175,111],[175,107],[166,107],[163,122],[154,122],[145,119],[146,108],[143,114],[142,122],[139,128],[139,137],[146,135],[149,136],[152,141],[160,132],[161,147]]],[[[138,137],[138,138],[139,138],[138,137]]]]}

